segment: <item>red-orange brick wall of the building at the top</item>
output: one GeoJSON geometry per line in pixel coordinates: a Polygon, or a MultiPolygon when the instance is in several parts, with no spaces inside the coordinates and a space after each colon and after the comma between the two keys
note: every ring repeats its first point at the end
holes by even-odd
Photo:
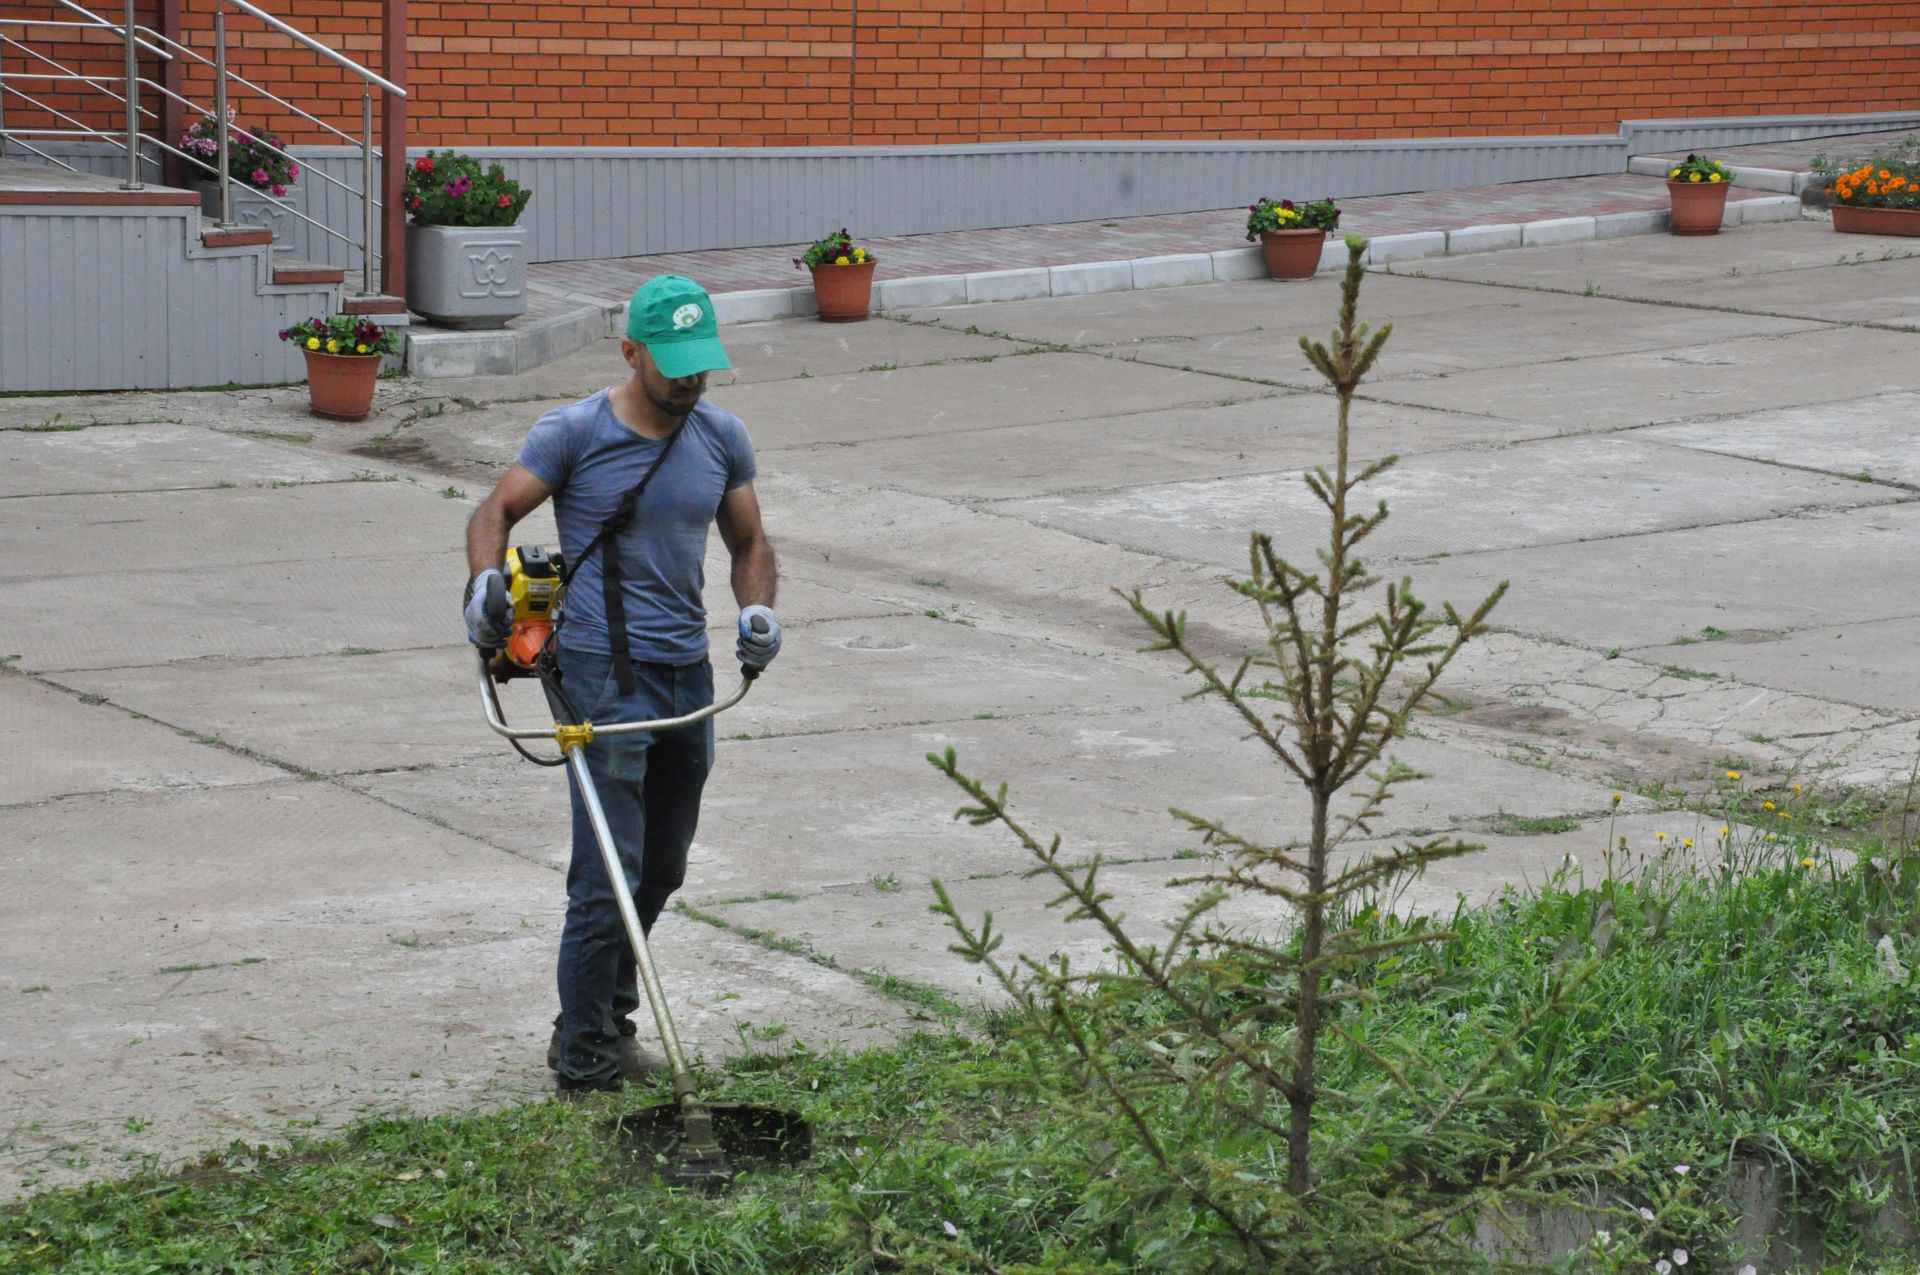
{"type": "MultiPolygon", "coordinates": [[[[40,6],[0,4],[23,8],[40,6]]],[[[200,46],[207,4],[184,8],[200,46]]],[[[378,60],[378,0],[267,8],[378,60]]],[[[252,19],[232,31],[238,69],[357,132],[353,81],[252,19]]],[[[1557,134],[1920,108],[1920,0],[411,0],[409,44],[409,134],[430,146],[1557,134]]]]}

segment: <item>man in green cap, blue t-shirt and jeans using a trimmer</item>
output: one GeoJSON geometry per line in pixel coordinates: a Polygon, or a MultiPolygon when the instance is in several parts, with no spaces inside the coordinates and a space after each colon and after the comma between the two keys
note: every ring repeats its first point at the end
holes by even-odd
{"type": "MultiPolygon", "coordinates": [[[[497,647],[507,634],[503,616],[488,613],[488,576],[499,572],[513,526],[553,497],[574,570],[557,641],[561,687],[591,722],[680,716],[712,703],[701,601],[708,522],[718,524],[733,563],[739,661],[764,668],[780,653],[778,570],[753,492],[753,442],[737,417],[701,401],[707,373],[732,367],[712,300],[689,278],[649,278],[628,307],[620,355],[634,376],[541,417],[518,463],[467,524],[467,636],[482,649],[497,647]],[[622,530],[614,515],[637,486],[622,530]]],[[[586,755],[634,906],[651,929],[685,878],[712,768],[712,720],[659,735],[603,735],[586,755]]],[[[568,785],[574,853],[561,1014],[547,1048],[563,1095],[614,1091],[660,1066],[634,1041],[634,952],[570,776],[568,785]]]]}

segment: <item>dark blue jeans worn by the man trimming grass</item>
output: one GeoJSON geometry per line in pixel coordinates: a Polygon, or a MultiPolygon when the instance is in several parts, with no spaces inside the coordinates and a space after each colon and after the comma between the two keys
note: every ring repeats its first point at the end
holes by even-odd
{"type": "MultiPolygon", "coordinates": [[[[707,661],[680,666],[636,661],[628,697],[620,695],[607,655],[563,651],[561,674],[574,709],[601,726],[682,716],[714,699],[714,672],[707,661]]],[[[643,929],[653,929],[668,895],[685,879],[701,787],[712,762],[712,718],[660,735],[601,735],[588,745],[588,772],[643,929]]],[[[561,931],[559,1071],[570,1081],[611,1081],[620,1037],[636,1031],[634,949],[572,768],[566,783],[574,801],[574,860],[566,870],[566,927],[561,931]]]]}

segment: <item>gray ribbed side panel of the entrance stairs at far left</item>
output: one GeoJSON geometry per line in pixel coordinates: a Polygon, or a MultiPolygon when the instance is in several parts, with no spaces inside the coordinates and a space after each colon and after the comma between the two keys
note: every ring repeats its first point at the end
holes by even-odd
{"type": "Polygon", "coordinates": [[[198,230],[192,207],[0,205],[0,392],[305,380],[278,332],[334,290],[275,286],[265,246],[198,230]]]}

